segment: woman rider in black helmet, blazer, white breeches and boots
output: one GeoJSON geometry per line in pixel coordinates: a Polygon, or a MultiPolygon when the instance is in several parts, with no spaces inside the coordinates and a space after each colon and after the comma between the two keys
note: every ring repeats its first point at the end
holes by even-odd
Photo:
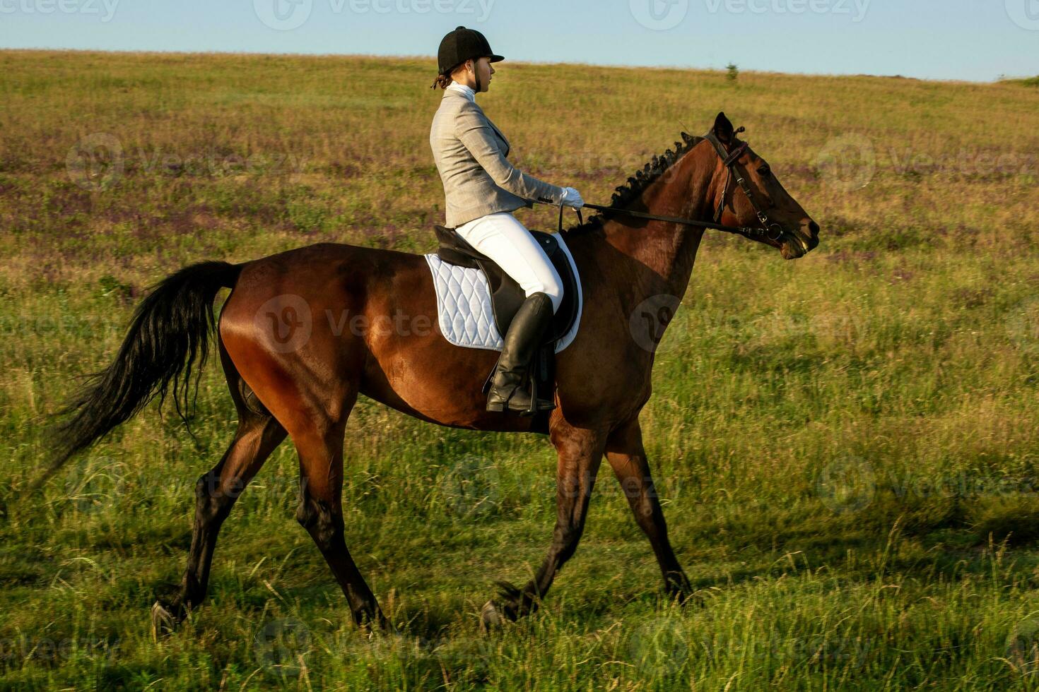
{"type": "MultiPolygon", "coordinates": [[[[527,370],[552,315],[562,301],[562,282],[530,231],[511,212],[532,200],[580,209],[574,188],[560,188],[516,170],[506,159],[509,143],[476,105],[490,86],[491,62],[504,60],[479,31],[458,27],[441,41],[439,75],[445,90],[433,117],[429,144],[447,198],[447,225],[515,279],[527,298],[505,334],[487,393],[487,411],[527,411],[527,370]]],[[[538,407],[555,408],[554,404],[538,407]]]]}

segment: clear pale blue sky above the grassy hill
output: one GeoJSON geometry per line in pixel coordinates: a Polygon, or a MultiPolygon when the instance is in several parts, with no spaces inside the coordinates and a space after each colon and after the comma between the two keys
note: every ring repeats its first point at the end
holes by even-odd
{"type": "Polygon", "coordinates": [[[1039,0],[0,0],[0,48],[508,58],[988,81],[1039,75],[1039,0]]]}

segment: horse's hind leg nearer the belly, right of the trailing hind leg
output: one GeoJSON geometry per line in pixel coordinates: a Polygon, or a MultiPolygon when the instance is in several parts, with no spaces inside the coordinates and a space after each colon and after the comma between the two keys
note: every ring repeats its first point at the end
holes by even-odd
{"type": "Polygon", "coordinates": [[[338,421],[293,431],[299,452],[300,499],[296,519],[317,544],[350,604],[353,620],[361,627],[385,629],[385,616],[375,596],[357,570],[343,537],[343,436],[346,419],[356,400],[354,393],[344,405],[338,421]]]}

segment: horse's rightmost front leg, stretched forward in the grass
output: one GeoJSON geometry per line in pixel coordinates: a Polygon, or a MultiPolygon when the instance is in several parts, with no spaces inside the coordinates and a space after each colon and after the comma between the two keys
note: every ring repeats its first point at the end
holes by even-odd
{"type": "Polygon", "coordinates": [[[606,445],[606,458],[613,467],[617,480],[620,481],[620,487],[635,515],[635,521],[649,538],[649,545],[652,546],[652,552],[664,575],[667,592],[680,599],[687,598],[692,589],[667,539],[667,524],[664,522],[664,511],[661,509],[660,498],[652,476],[649,474],[649,463],[642,446],[642,430],[637,418],[610,435],[606,445]]]}

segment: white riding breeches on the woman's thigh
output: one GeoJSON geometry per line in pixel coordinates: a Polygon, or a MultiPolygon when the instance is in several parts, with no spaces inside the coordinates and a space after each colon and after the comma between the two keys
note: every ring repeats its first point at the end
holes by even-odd
{"type": "Polygon", "coordinates": [[[544,250],[526,226],[508,212],[490,214],[455,228],[467,243],[494,259],[524,289],[527,297],[543,293],[552,311],[563,300],[563,282],[544,250]]]}

